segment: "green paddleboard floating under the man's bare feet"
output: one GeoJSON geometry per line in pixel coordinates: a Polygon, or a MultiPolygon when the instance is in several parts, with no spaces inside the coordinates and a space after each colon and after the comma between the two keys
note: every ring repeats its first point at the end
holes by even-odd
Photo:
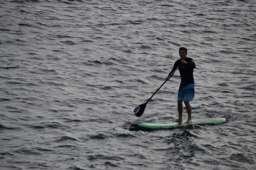
{"type": "Polygon", "coordinates": [[[186,126],[190,124],[196,125],[217,125],[220,123],[224,123],[226,121],[225,118],[209,118],[209,119],[200,119],[200,120],[192,120],[192,123],[142,123],[142,124],[131,124],[132,127],[136,128],[148,128],[148,129],[160,129],[160,128],[168,128],[168,127],[178,127],[178,126],[186,126]]]}

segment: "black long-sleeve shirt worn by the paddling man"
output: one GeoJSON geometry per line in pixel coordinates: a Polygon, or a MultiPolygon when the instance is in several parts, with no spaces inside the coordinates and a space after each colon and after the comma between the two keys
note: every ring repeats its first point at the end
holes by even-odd
{"type": "Polygon", "coordinates": [[[185,61],[187,62],[187,64],[182,64],[180,61],[181,59],[177,60],[174,63],[172,71],[169,73],[168,76],[170,76],[174,72],[174,70],[179,66],[181,83],[185,83],[185,84],[194,83],[193,71],[194,71],[194,68],[196,68],[196,64],[194,60],[192,58],[186,57],[185,61]]]}

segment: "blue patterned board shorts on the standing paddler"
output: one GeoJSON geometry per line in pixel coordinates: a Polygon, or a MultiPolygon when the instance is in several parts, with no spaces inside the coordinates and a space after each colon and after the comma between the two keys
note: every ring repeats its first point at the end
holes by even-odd
{"type": "Polygon", "coordinates": [[[195,97],[195,84],[180,83],[178,101],[192,101],[195,97]]]}

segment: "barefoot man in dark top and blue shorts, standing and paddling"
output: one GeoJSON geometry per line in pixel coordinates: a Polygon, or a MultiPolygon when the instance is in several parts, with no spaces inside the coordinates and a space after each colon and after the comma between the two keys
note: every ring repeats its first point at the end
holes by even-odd
{"type": "MultiPolygon", "coordinates": [[[[193,70],[196,68],[196,64],[192,58],[187,57],[187,49],[185,47],[179,48],[180,59],[174,63],[172,71],[169,73],[170,76],[177,67],[179,67],[179,74],[181,82],[179,85],[178,92],[178,112],[179,118],[174,122],[182,122],[182,112],[183,112],[183,101],[187,108],[188,120],[185,123],[192,123],[191,112],[192,108],[189,101],[192,101],[195,96],[195,82],[193,77],[193,70]],[[179,65],[180,64],[180,65],[179,65]]],[[[172,76],[171,76],[172,77],[172,76]]],[[[170,78],[166,77],[165,80],[168,81],[170,78]]]]}

